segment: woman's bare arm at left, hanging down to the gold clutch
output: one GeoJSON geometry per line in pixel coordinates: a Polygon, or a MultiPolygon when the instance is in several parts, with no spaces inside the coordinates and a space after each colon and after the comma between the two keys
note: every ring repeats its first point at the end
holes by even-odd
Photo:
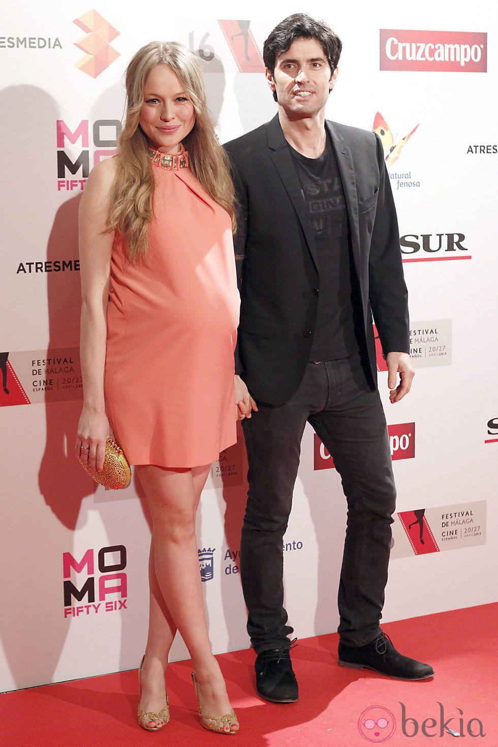
{"type": "Polygon", "coordinates": [[[101,161],[92,170],[79,208],[81,273],[81,373],[83,410],[76,436],[76,456],[88,453],[88,465],[101,472],[105,439],[109,434],[104,402],[105,344],[111,250],[114,232],[106,229],[115,159],[101,161]],[[81,445],[89,447],[81,451],[81,445]]]}

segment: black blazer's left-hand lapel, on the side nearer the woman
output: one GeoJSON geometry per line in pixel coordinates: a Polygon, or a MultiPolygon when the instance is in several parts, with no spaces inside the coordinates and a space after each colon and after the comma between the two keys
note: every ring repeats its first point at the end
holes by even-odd
{"type": "Polygon", "coordinates": [[[270,149],[270,158],[273,164],[275,164],[278,176],[280,176],[282,185],[284,185],[284,189],[299,218],[299,223],[301,223],[302,232],[305,235],[311,258],[318,269],[317,249],[314,243],[308,205],[305,202],[305,196],[297,176],[296,167],[293,164],[287,140],[284,138],[284,133],[278,120],[278,114],[268,123],[268,148],[270,149]]]}

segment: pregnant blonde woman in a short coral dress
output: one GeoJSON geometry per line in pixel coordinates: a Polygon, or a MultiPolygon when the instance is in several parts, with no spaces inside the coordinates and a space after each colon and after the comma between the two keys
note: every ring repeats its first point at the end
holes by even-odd
{"type": "Polygon", "coordinates": [[[140,726],[157,731],[169,720],[164,677],[179,630],[202,726],[236,734],[208,638],[195,527],[211,462],[236,441],[237,417],[251,409],[238,377],[234,386],[233,186],[199,65],[184,46],[140,49],[126,91],[118,154],[93,169],[81,199],[84,405],[76,450],[102,471],[111,434],[149,501],[140,726]]]}

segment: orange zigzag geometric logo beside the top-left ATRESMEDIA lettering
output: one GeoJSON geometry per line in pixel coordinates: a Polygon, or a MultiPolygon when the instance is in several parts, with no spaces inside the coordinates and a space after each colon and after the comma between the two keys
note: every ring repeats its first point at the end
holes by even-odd
{"type": "Polygon", "coordinates": [[[96,10],[89,10],[88,13],[75,19],[73,23],[87,34],[75,42],[78,49],[87,52],[80,61],[75,63],[75,67],[78,67],[81,72],[86,72],[90,78],[96,78],[119,57],[119,52],[111,47],[111,42],[119,37],[119,31],[116,31],[96,10]]]}

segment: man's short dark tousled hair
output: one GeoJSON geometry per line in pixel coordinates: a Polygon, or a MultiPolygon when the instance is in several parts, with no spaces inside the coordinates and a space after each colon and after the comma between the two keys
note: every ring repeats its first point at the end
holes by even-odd
{"type": "MultiPolygon", "coordinates": [[[[276,59],[287,52],[296,39],[316,39],[334,72],[340,58],[343,43],[324,21],[315,21],[305,13],[294,13],[278,23],[263,45],[263,59],[267,69],[275,72],[276,59]]],[[[277,100],[276,92],[273,98],[277,100]]]]}

